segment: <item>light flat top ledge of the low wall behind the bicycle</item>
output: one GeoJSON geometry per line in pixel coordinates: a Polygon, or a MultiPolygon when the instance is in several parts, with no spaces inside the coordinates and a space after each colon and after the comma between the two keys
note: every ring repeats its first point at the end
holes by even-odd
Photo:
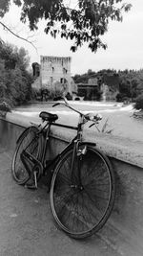
{"type": "MultiPolygon", "coordinates": [[[[9,122],[14,126],[26,128],[32,123],[39,124],[40,119],[25,117],[20,114],[7,113],[6,119],[1,122],[9,122]]],[[[51,134],[70,141],[75,135],[74,130],[60,127],[51,127],[51,134]]],[[[108,156],[116,158],[143,168],[143,143],[130,140],[129,138],[121,138],[105,133],[95,133],[94,131],[84,130],[83,140],[95,142],[98,149],[104,151],[108,156]]]]}

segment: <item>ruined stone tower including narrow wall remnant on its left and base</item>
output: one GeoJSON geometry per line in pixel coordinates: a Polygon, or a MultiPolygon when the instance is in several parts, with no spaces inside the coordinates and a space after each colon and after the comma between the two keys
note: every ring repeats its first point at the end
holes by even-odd
{"type": "Polygon", "coordinates": [[[32,84],[33,88],[55,89],[65,94],[75,92],[76,86],[71,76],[71,57],[40,57],[40,73],[37,72],[37,63],[32,64],[33,76],[38,74],[32,84]]]}

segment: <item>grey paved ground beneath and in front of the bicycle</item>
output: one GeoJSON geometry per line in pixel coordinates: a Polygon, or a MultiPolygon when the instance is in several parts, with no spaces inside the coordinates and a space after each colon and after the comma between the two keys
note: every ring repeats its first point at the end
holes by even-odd
{"type": "Polygon", "coordinates": [[[0,256],[119,256],[100,234],[84,241],[57,229],[49,194],[18,186],[10,175],[10,154],[0,151],[0,256]]]}

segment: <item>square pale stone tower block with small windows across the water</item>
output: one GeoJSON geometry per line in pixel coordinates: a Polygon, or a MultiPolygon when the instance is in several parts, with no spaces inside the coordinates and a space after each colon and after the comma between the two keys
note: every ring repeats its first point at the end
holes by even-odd
{"type": "Polygon", "coordinates": [[[63,86],[72,94],[71,57],[41,56],[41,85],[47,89],[63,86]],[[59,84],[59,85],[58,85],[59,84]]]}

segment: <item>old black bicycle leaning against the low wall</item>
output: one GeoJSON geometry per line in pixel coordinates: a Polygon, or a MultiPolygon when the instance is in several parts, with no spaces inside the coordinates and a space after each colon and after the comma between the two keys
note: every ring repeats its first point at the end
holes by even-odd
{"type": "MultiPolygon", "coordinates": [[[[25,185],[32,178],[34,187],[42,175],[51,178],[51,213],[58,226],[69,236],[82,239],[99,231],[108,221],[115,197],[115,180],[109,158],[96,149],[95,143],[82,141],[84,125],[98,124],[100,115],[79,114],[77,127],[55,123],[56,114],[42,111],[39,117],[45,126],[26,128],[17,141],[12,159],[11,173],[15,181],[25,185]],[[76,136],[67,147],[50,161],[46,151],[51,126],[76,129],[76,136]]],[[[90,127],[92,127],[90,125],[90,127]]]]}

